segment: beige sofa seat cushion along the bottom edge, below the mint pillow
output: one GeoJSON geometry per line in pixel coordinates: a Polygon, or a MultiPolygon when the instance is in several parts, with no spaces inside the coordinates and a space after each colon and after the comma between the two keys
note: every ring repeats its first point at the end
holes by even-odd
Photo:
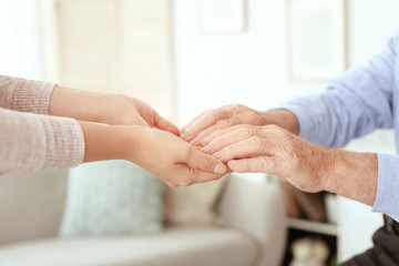
{"type": "Polygon", "coordinates": [[[0,265],[249,266],[256,243],[239,231],[174,227],[152,236],[51,238],[0,247],[0,265]]]}

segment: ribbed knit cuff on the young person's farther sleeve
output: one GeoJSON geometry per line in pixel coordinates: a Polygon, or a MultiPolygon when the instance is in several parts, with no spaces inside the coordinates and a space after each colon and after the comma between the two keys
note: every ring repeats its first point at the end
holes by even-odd
{"type": "Polygon", "coordinates": [[[55,85],[55,83],[43,81],[13,79],[10,109],[20,112],[49,114],[51,94],[55,85]]]}

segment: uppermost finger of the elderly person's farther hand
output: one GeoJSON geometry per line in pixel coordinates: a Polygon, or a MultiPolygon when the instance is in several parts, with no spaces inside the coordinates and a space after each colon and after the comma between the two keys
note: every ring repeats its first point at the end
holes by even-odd
{"type": "Polygon", "coordinates": [[[186,142],[191,142],[198,135],[200,132],[214,125],[217,121],[225,119],[226,112],[223,110],[207,111],[201,117],[195,120],[182,133],[182,139],[186,142]]]}

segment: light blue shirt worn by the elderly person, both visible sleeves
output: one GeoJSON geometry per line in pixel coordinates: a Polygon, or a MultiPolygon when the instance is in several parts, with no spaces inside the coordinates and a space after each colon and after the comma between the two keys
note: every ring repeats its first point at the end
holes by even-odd
{"type": "MultiPolygon", "coordinates": [[[[299,136],[326,146],[342,147],[377,127],[395,127],[398,140],[398,48],[399,34],[365,68],[332,80],[325,92],[280,106],[296,114],[299,136]]],[[[377,190],[372,211],[399,221],[399,156],[378,154],[377,190]]]]}

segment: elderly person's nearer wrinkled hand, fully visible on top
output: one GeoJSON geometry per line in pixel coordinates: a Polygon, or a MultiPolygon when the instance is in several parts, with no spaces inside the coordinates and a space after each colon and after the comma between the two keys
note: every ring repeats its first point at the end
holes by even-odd
{"type": "Polygon", "coordinates": [[[208,135],[204,145],[202,152],[232,171],[275,174],[307,192],[323,191],[332,174],[327,149],[276,125],[236,125],[208,135]]]}

